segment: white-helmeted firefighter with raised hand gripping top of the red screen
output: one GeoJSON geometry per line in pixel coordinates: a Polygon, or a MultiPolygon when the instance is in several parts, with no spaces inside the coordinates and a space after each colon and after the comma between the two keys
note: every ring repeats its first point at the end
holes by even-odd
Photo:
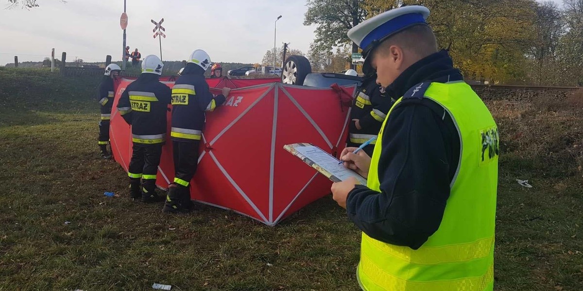
{"type": "Polygon", "coordinates": [[[174,151],[174,183],[168,186],[163,212],[188,212],[194,205],[189,186],[198,164],[199,143],[205,125],[205,112],[222,105],[230,88],[216,97],[209,91],[205,71],[210,57],[201,49],[192,52],[181,76],[172,88],[171,139],[174,151]]]}

